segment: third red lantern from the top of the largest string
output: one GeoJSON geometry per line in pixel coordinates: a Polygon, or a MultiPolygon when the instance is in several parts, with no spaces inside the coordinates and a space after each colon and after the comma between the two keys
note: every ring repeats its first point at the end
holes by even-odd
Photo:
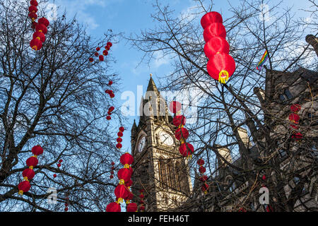
{"type": "Polygon", "coordinates": [[[230,45],[223,37],[212,37],[206,44],[204,45],[204,53],[206,57],[210,59],[214,54],[218,53],[228,54],[230,52],[230,45]]]}

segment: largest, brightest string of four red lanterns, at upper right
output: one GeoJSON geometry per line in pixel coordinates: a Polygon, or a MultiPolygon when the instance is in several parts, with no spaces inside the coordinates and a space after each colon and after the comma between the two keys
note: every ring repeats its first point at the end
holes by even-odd
{"type": "Polygon", "coordinates": [[[225,40],[226,30],[223,18],[218,12],[206,13],[201,18],[204,28],[204,53],[208,57],[208,74],[220,83],[226,83],[235,71],[235,61],[228,54],[230,45],[225,40]]]}

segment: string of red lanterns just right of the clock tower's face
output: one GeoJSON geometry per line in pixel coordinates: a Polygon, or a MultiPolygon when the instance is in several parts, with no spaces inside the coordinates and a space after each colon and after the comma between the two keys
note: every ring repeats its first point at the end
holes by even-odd
{"type": "Polygon", "coordinates": [[[186,124],[186,117],[181,114],[182,105],[180,102],[172,101],[170,102],[170,112],[175,114],[175,117],[172,119],[172,124],[177,126],[177,130],[175,131],[175,138],[178,141],[181,141],[181,145],[179,146],[179,152],[182,156],[191,158],[192,153],[194,153],[194,147],[191,143],[187,143],[186,140],[189,137],[189,131],[184,128],[184,124],[186,124]]]}

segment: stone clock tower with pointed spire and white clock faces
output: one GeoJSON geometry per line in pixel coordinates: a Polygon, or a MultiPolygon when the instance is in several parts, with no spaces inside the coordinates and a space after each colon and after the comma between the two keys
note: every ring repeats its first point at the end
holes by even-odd
{"type": "Polygon", "coordinates": [[[143,189],[145,211],[175,210],[189,198],[192,184],[187,159],[174,136],[177,128],[152,77],[139,110],[139,124],[134,121],[131,128],[133,201],[140,206],[143,189]]]}

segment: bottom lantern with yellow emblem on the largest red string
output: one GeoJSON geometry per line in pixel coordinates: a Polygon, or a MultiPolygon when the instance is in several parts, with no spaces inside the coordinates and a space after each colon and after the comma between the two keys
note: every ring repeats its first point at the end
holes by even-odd
{"type": "Polygon", "coordinates": [[[235,71],[235,61],[229,54],[215,54],[208,60],[208,74],[219,81],[225,83],[235,71]]]}

